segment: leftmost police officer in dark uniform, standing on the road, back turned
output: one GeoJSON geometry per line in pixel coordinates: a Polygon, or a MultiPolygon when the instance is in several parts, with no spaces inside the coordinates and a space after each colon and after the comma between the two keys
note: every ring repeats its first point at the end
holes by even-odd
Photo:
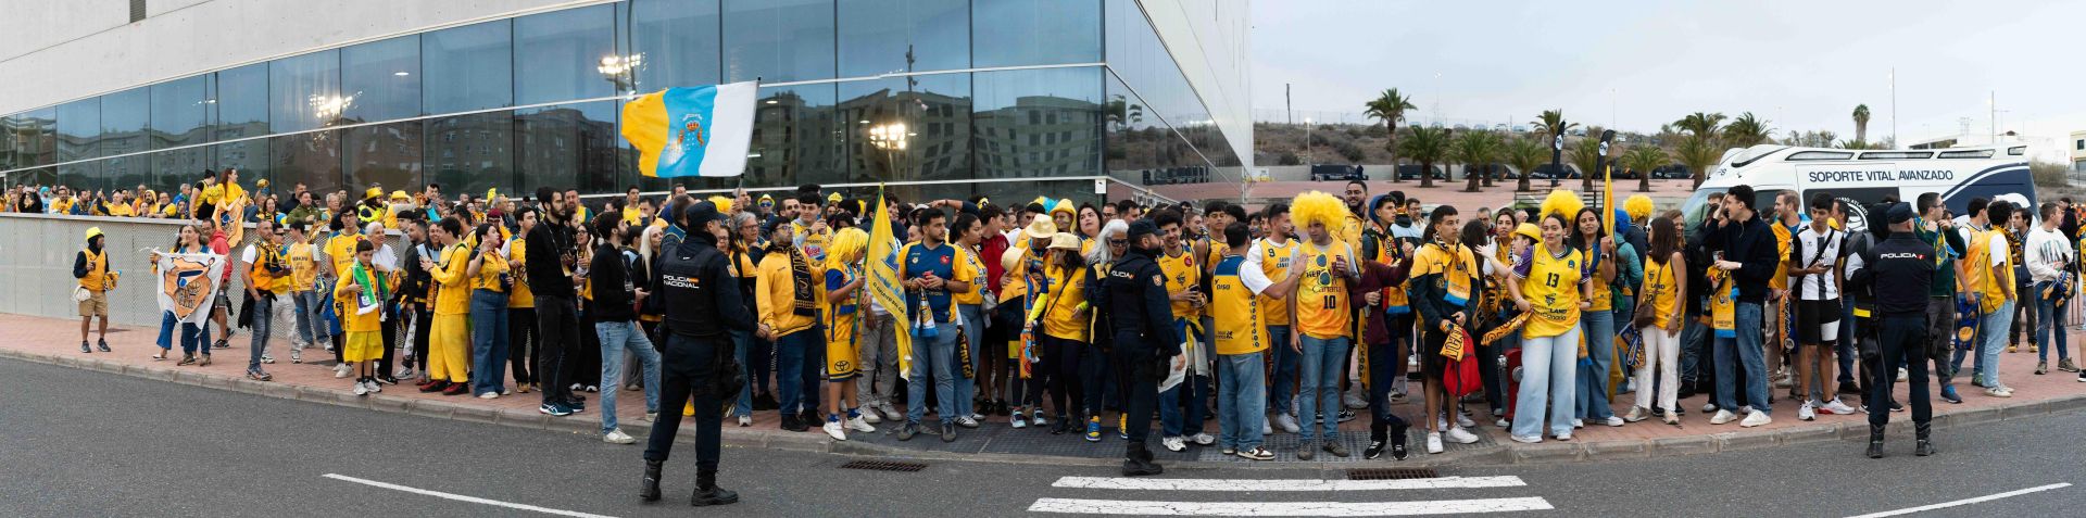
{"type": "MultiPolygon", "coordinates": [[[[688,505],[736,503],[738,493],[718,487],[718,439],[724,397],[738,395],[745,378],[732,363],[730,330],[753,330],[753,313],[738,301],[738,278],[718,251],[724,215],[711,203],[686,209],[688,240],[659,261],[653,292],[665,297],[665,347],[659,374],[659,407],[678,409],[695,399],[695,495],[688,505]],[[736,378],[736,380],[734,380],[736,378]]],[[[659,499],[659,468],[674,447],[680,418],[653,422],[645,447],[645,485],[638,497],[659,499]]]]}

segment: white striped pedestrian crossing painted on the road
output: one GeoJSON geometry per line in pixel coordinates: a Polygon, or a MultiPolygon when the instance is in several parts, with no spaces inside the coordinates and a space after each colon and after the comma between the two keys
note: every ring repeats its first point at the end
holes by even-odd
{"type": "MultiPolygon", "coordinates": [[[[1191,491],[1191,493],[1348,493],[1352,491],[1423,491],[1423,489],[1514,489],[1527,487],[1521,476],[1439,476],[1400,480],[1318,480],[1318,478],[1122,478],[1062,476],[1051,489],[1076,491],[1191,491]]],[[[1466,495],[1462,491],[1458,495],[1466,495]]],[[[1149,493],[1137,493],[1149,495],[1149,493]]],[[[1179,493],[1168,493],[1179,495],[1179,493]]],[[[1135,516],[1431,516],[1431,514],[1494,514],[1556,510],[1544,497],[1481,497],[1481,499],[1389,499],[1389,501],[1193,501],[1193,499],[1085,499],[1041,497],[1028,512],[1045,514],[1135,514],[1135,516]]]]}

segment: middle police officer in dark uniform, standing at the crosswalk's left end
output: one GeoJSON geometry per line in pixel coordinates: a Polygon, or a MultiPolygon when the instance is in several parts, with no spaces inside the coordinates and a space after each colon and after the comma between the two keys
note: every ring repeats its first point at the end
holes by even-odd
{"type": "Polygon", "coordinates": [[[1122,474],[1162,474],[1145,449],[1151,432],[1151,411],[1158,405],[1158,382],[1166,378],[1168,361],[1181,355],[1181,336],[1172,326],[1172,303],[1166,297],[1166,274],[1151,257],[1160,251],[1160,228],[1151,219],[1131,223],[1131,249],[1108,272],[1103,290],[1114,324],[1116,357],[1129,397],[1124,411],[1129,447],[1122,451],[1122,474]]]}

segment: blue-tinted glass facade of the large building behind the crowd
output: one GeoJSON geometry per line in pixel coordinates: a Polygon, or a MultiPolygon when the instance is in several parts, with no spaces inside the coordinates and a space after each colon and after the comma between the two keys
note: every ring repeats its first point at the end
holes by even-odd
{"type": "Polygon", "coordinates": [[[238,167],[286,190],[640,186],[634,92],[759,79],[745,178],[909,201],[1112,198],[1237,182],[1239,155],[1135,0],[626,0],[217,69],[0,117],[8,184],[83,190],[238,167]],[[870,127],[903,123],[887,150],[870,127]],[[853,186],[853,188],[847,188],[853,186]]]}

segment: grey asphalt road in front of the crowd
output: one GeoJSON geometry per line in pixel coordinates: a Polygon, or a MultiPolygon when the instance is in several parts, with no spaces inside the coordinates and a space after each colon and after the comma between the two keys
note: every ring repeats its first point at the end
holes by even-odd
{"type": "Polygon", "coordinates": [[[668,499],[645,505],[638,445],[0,359],[0,516],[1861,516],[2051,485],[2071,487],[1919,516],[2082,516],[2082,430],[2086,414],[2063,414],[1942,432],[1938,457],[1913,457],[1911,441],[1894,441],[1886,460],[1863,457],[1859,443],[1823,443],[1450,468],[1441,474],[1460,478],[1389,485],[1348,482],[1335,468],[1172,466],[1166,478],[1191,480],[1168,489],[1122,487],[1112,468],[1093,466],[866,472],[839,470],[859,457],[728,447],[724,485],[745,501],[693,510],[693,447],[668,462],[668,499]]]}

